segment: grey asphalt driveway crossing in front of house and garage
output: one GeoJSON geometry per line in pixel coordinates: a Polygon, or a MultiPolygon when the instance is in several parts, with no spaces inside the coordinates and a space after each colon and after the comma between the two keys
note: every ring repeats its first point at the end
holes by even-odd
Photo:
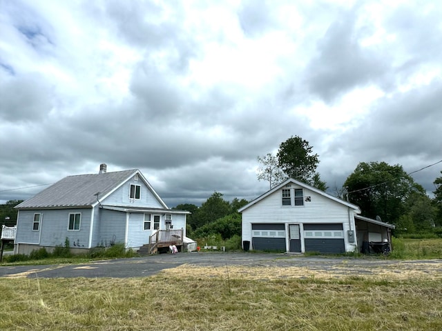
{"type": "Polygon", "coordinates": [[[148,277],[164,269],[180,265],[207,268],[242,265],[249,267],[298,267],[305,270],[340,272],[345,275],[371,274],[379,268],[394,272],[419,270],[419,272],[442,272],[442,260],[397,261],[378,258],[302,257],[287,254],[260,254],[252,252],[184,252],[158,254],[131,259],[95,261],[75,265],[19,265],[0,267],[0,277],[70,278],[70,277],[148,277]]]}

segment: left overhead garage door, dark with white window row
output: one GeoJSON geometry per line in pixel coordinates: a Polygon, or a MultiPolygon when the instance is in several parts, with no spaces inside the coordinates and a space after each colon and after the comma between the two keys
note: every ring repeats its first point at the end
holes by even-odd
{"type": "Polygon", "coordinates": [[[284,223],[252,223],[253,250],[280,250],[285,252],[284,223]]]}

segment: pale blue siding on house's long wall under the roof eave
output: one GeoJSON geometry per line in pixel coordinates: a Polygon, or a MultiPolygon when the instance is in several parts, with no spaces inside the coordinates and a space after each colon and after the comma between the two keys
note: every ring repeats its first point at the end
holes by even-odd
{"type": "Polygon", "coordinates": [[[55,247],[56,245],[64,245],[66,238],[68,238],[71,247],[88,248],[91,211],[91,208],[21,210],[15,243],[55,247]],[[36,212],[41,214],[39,231],[32,230],[32,222],[36,212]],[[69,214],[78,212],[81,213],[80,229],[68,230],[69,214]]]}

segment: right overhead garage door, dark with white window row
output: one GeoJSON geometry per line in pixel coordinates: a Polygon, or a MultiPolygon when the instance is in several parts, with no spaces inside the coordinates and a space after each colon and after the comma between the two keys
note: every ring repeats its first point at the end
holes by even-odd
{"type": "Polygon", "coordinates": [[[304,224],[306,252],[343,253],[345,252],[342,223],[304,224]]]}

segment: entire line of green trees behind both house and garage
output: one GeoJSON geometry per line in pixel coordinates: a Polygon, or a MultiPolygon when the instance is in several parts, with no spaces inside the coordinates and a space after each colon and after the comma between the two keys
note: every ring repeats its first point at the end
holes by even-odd
{"type": "MultiPolygon", "coordinates": [[[[327,183],[316,171],[319,156],[309,142],[298,136],[280,143],[276,155],[258,157],[257,178],[268,181],[269,189],[287,178],[294,178],[319,190],[326,191],[327,183]]],[[[442,174],[442,171],[441,171],[442,174]]],[[[383,161],[361,162],[345,180],[342,188],[336,188],[336,197],[345,199],[361,208],[361,214],[396,225],[394,234],[432,233],[442,236],[442,176],[434,180],[434,197],[403,170],[402,165],[389,165],[383,161]]],[[[14,225],[17,220],[15,205],[11,200],[0,205],[3,224],[14,225]],[[9,219],[6,219],[9,217],[9,219]]],[[[177,210],[187,210],[187,234],[195,238],[219,234],[222,239],[241,235],[241,215],[238,209],[249,201],[235,198],[226,201],[223,194],[214,192],[200,206],[182,203],[177,210]]]]}

